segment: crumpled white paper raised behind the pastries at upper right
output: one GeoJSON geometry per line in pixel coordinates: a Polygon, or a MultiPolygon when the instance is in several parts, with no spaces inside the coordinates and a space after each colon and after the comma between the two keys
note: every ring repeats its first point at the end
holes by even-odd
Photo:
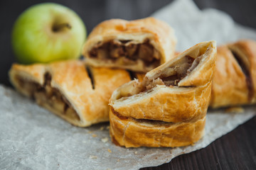
{"type": "Polygon", "coordinates": [[[176,0],[152,16],[174,28],[180,52],[206,40],[216,40],[218,45],[246,38],[256,40],[256,30],[238,25],[223,11],[201,11],[192,0],[176,0]]]}

